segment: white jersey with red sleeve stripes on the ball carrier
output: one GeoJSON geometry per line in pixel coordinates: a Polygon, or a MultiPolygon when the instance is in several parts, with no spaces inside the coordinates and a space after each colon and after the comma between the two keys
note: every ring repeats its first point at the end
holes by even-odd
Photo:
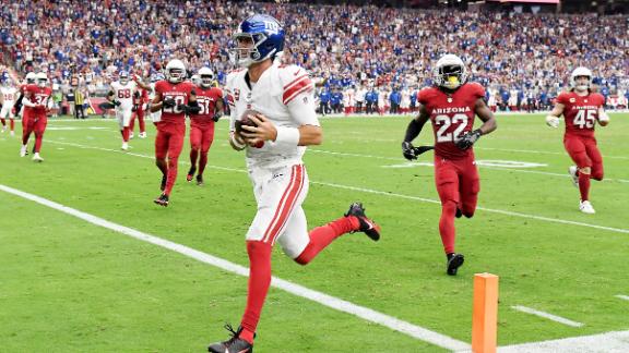
{"type": "MultiPolygon", "coordinates": [[[[314,108],[314,86],[302,68],[274,63],[266,69],[257,83],[245,80],[247,70],[227,76],[225,92],[232,111],[229,130],[247,109],[264,114],[275,126],[319,126],[314,108]]],[[[266,142],[261,148],[247,147],[250,167],[276,168],[301,163],[305,146],[292,149],[277,148],[266,142]]]]}

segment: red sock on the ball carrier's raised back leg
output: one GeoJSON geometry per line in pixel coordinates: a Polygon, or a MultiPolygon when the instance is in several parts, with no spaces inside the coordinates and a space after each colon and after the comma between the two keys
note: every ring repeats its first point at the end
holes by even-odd
{"type": "Polygon", "coordinates": [[[317,227],[310,231],[310,242],[306,248],[295,258],[295,261],[300,265],[310,263],[317,255],[330,245],[336,238],[356,230],[360,223],[356,217],[343,217],[334,220],[325,226],[317,227]]]}

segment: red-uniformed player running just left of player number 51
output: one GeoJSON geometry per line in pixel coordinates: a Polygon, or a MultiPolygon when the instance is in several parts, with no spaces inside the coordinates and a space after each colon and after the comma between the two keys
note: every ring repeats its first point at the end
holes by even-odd
{"type": "Polygon", "coordinates": [[[166,80],[155,83],[155,98],[151,105],[151,112],[162,111],[161,120],[155,122],[155,165],[162,171],[162,195],[154,200],[161,206],[168,206],[177,179],[177,162],[186,135],[186,114],[201,110],[197,104],[194,86],[185,82],[185,78],[183,62],[170,60],[166,65],[166,80]]]}

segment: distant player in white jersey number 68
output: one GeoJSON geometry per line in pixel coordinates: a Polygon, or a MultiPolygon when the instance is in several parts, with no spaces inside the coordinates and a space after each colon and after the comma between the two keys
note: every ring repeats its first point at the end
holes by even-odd
{"type": "Polygon", "coordinates": [[[131,123],[131,115],[133,113],[133,99],[138,86],[150,89],[149,86],[140,82],[137,75],[130,80],[127,71],[120,71],[118,81],[111,83],[111,90],[107,94],[107,99],[116,107],[116,119],[120,126],[120,134],[122,135],[122,150],[129,149],[129,125],[131,123]]]}

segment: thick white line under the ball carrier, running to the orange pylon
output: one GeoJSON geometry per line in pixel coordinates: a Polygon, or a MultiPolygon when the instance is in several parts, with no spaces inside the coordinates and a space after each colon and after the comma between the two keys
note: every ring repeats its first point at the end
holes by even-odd
{"type": "MultiPolygon", "coordinates": [[[[249,269],[248,268],[242,267],[242,266],[237,265],[237,264],[234,264],[234,263],[230,263],[230,261],[225,260],[221,257],[212,256],[210,254],[200,252],[198,249],[188,247],[186,245],[174,243],[174,242],[170,242],[168,240],[157,238],[155,235],[143,233],[143,232],[134,230],[132,228],[128,228],[128,227],[124,227],[121,224],[114,223],[114,222],[105,220],[103,218],[80,211],[78,209],[74,209],[74,208],[71,208],[68,206],[63,206],[63,205],[55,203],[52,200],[33,195],[33,194],[25,193],[23,191],[20,191],[20,190],[10,187],[10,186],[5,186],[5,185],[0,184],[0,190],[5,192],[5,193],[13,194],[15,196],[20,196],[22,198],[35,202],[35,203],[40,204],[40,205],[44,205],[46,207],[62,211],[67,215],[76,217],[76,218],[82,219],[84,221],[87,221],[92,224],[96,224],[96,226],[112,230],[115,232],[122,233],[124,235],[129,235],[129,236],[134,238],[137,240],[147,242],[147,243],[167,248],[169,251],[179,253],[181,255],[188,256],[188,257],[193,258],[195,260],[199,260],[201,263],[212,265],[214,267],[218,267],[223,270],[226,270],[226,271],[229,271],[229,272],[233,272],[236,275],[240,275],[244,277],[249,276],[249,269]]],[[[413,325],[411,322],[403,321],[401,319],[397,319],[395,317],[376,312],[376,311],[370,309],[368,307],[353,304],[351,302],[337,299],[335,296],[328,295],[328,294],[322,293],[322,292],[318,292],[318,291],[308,289],[306,287],[280,279],[277,277],[273,277],[271,285],[278,288],[281,290],[284,290],[288,293],[295,294],[297,296],[301,296],[301,297],[308,299],[312,302],[319,303],[321,305],[331,307],[331,308],[336,309],[339,312],[347,313],[347,314],[357,316],[359,318],[363,318],[367,321],[382,325],[382,326],[388,327],[392,330],[402,332],[404,334],[411,336],[415,339],[435,344],[435,345],[440,346],[440,348],[444,348],[448,350],[466,350],[466,349],[470,349],[470,344],[467,344],[463,341],[455,340],[451,337],[448,337],[448,336],[444,336],[444,334],[441,334],[441,333],[438,333],[435,331],[430,331],[430,330],[425,329],[423,327],[413,325]]]]}

